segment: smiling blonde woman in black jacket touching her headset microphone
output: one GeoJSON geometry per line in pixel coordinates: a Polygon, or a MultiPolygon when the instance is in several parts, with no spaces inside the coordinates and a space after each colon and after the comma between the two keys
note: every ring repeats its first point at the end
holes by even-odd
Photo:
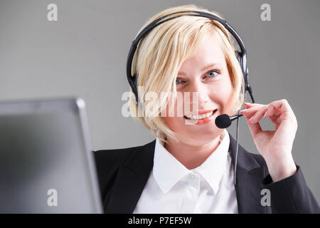
{"type": "MultiPolygon", "coordinates": [[[[219,16],[193,5],[177,6],[146,24],[179,11],[219,16]]],[[[156,26],[139,42],[132,66],[143,99],[138,105],[132,95],[130,111],[139,114],[156,140],[95,152],[106,213],[319,212],[292,158],[297,131],[292,108],[287,100],[243,103],[235,47],[218,22],[180,16],[156,26]],[[242,104],[246,109],[240,113],[260,155],[239,146],[234,185],[236,143],[214,120],[235,115],[242,104]],[[262,117],[274,123],[274,131],[261,130],[262,117]]]]}

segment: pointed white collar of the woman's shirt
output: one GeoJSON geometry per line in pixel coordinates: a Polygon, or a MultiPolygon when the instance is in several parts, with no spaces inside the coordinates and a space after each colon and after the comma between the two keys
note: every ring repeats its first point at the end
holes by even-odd
{"type": "Polygon", "coordinates": [[[228,164],[229,144],[228,131],[224,130],[220,136],[220,144],[215,151],[200,166],[193,170],[188,170],[166,150],[163,142],[156,138],[153,175],[162,192],[169,192],[181,178],[191,172],[197,172],[208,182],[213,192],[217,193],[225,171],[225,165],[228,164]]]}

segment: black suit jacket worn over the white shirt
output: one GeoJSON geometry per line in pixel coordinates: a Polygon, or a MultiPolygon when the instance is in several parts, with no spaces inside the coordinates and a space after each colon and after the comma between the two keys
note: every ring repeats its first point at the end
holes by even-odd
{"type": "MultiPolygon", "coordinates": [[[[235,165],[236,141],[230,136],[229,152],[235,165]]],[[[94,152],[105,213],[132,213],[154,165],[156,140],[138,147],[94,152]]],[[[320,213],[299,166],[291,177],[272,182],[261,155],[239,145],[235,191],[239,213],[320,213]],[[271,205],[262,206],[270,190],[271,205]]]]}

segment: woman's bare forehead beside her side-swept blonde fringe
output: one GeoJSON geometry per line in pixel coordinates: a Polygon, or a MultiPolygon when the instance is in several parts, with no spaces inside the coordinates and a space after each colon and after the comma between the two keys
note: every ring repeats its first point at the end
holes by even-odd
{"type": "Polygon", "coordinates": [[[183,71],[183,68],[193,68],[195,66],[201,68],[211,63],[216,63],[217,65],[225,64],[225,55],[216,36],[216,34],[212,33],[205,35],[199,42],[193,56],[183,61],[181,71],[183,71]]]}

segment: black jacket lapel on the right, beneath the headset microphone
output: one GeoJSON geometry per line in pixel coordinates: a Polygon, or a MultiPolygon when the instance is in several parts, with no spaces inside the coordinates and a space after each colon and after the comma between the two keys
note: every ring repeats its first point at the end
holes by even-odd
{"type": "MultiPolygon", "coordinates": [[[[237,142],[230,135],[229,152],[235,167],[237,142]]],[[[243,147],[238,147],[238,162],[235,176],[235,192],[237,195],[239,213],[266,213],[267,207],[261,204],[262,180],[265,177],[265,167],[261,166],[252,154],[243,147]]]]}

